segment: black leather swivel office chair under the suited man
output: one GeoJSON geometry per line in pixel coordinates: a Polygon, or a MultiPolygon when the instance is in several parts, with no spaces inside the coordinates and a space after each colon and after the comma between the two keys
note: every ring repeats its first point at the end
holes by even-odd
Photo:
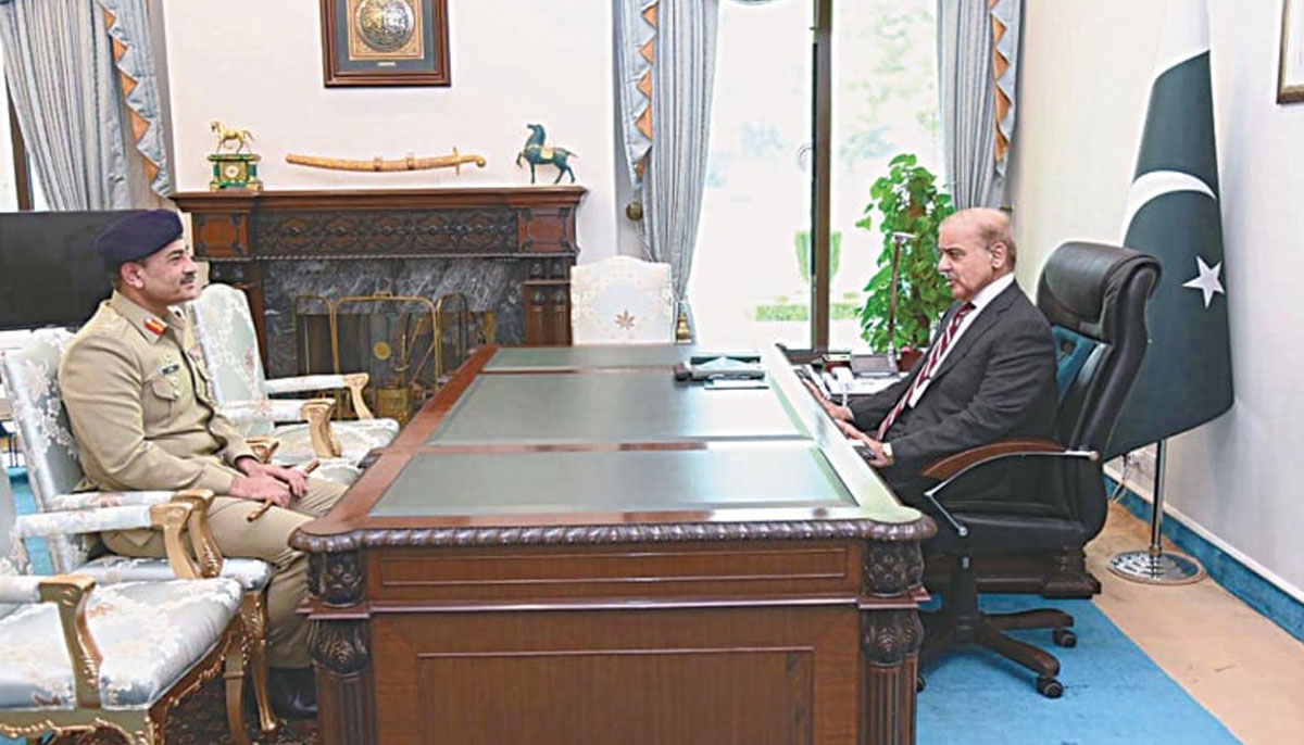
{"type": "MultiPolygon", "coordinates": [[[[1059,660],[1003,632],[1052,629],[1060,646],[1077,638],[1073,617],[1058,610],[988,615],[978,610],[970,559],[1029,550],[1078,550],[1104,525],[1102,465],[1119,455],[1108,440],[1146,350],[1145,305],[1159,280],[1154,257],[1099,244],[1069,242],[1051,254],[1037,288],[1037,306],[1059,339],[1093,345],[1067,378],[1056,413],[1058,443],[1011,440],[943,458],[925,470],[940,483],[928,490],[939,517],[930,551],[956,561],[943,610],[931,613],[921,669],[955,642],[973,642],[1037,673],[1037,690],[1058,698],[1059,660]],[[1034,457],[1035,456],[1035,457],[1034,457]],[[965,500],[965,474],[994,460],[1024,460],[1028,494],[965,500]]],[[[922,679],[921,679],[922,685],[922,679]]]]}

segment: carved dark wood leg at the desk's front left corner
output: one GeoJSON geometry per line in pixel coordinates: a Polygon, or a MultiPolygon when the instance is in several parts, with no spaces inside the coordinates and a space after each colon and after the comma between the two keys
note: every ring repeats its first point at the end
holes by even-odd
{"type": "MultiPolygon", "coordinates": [[[[312,554],[309,586],[313,597],[348,610],[363,600],[363,560],[356,551],[312,554]]],[[[317,667],[317,724],[322,745],[376,742],[372,701],[372,658],[366,619],[355,613],[338,620],[318,607],[312,615],[309,647],[317,667]]]]}

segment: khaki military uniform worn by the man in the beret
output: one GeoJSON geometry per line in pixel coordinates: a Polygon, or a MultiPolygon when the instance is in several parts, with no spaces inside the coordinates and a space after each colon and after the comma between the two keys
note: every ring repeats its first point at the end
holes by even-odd
{"type": "MultiPolygon", "coordinates": [[[[253,457],[240,432],[216,413],[202,354],[180,313],[158,318],[115,292],[69,345],[59,387],[86,473],[81,488],[209,488],[226,495],[240,475],[236,461],[253,457]]],[[[308,591],[308,563],[288,539],[343,494],[342,485],[309,479],[308,494],[254,522],[245,517],[259,501],[218,496],[213,503],[210,525],[222,552],[275,567],[267,590],[273,666],[310,664],[308,626],[295,612],[308,591]]],[[[102,538],[115,554],[163,556],[156,531],[107,531],[102,538]]]]}

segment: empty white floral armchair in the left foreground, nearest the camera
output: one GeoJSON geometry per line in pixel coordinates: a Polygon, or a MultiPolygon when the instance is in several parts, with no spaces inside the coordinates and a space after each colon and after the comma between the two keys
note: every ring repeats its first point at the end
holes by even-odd
{"type": "MultiPolygon", "coordinates": [[[[22,552],[7,546],[10,530],[42,531],[37,522],[48,516],[14,518],[12,501],[0,505],[0,735],[37,742],[44,733],[108,728],[132,745],[159,745],[168,710],[224,669],[227,723],[237,744],[249,744],[245,593],[235,580],[201,577],[183,538],[211,499],[181,492],[162,504],[76,511],[64,529],[80,522],[80,530],[163,530],[183,577],[115,585],[86,574],[27,574],[22,552]]],[[[220,563],[215,547],[203,546],[206,561],[220,563]]]]}

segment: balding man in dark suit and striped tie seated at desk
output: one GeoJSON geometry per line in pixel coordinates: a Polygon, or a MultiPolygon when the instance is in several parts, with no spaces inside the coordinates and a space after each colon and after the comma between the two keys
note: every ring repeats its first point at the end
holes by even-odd
{"type": "MultiPolygon", "coordinates": [[[[930,462],[1009,438],[1052,434],[1055,346],[1050,324],[1015,281],[1015,240],[999,210],[962,210],[938,232],[938,271],[956,302],[932,346],[910,374],[884,391],[837,406],[842,431],[863,443],[870,465],[897,495],[918,504],[930,462]]],[[[969,498],[1017,494],[1017,470],[986,466],[969,498]]]]}

